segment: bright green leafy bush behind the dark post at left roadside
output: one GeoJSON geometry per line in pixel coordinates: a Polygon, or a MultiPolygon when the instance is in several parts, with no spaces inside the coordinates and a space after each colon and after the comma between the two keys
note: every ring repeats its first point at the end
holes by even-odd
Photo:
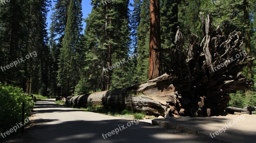
{"type": "Polygon", "coordinates": [[[34,101],[22,89],[0,82],[0,127],[7,131],[16,123],[21,122],[22,102],[25,102],[25,118],[30,116],[34,101]]]}

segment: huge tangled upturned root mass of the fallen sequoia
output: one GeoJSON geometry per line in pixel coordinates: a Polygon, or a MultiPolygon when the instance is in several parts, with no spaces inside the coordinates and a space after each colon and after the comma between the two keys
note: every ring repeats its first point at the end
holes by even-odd
{"type": "Polygon", "coordinates": [[[159,50],[169,54],[164,64],[177,92],[172,102],[167,101],[170,116],[219,115],[230,100],[228,93],[250,89],[249,81],[239,72],[255,58],[242,52],[241,32],[234,31],[225,37],[220,26],[212,26],[210,15],[204,19],[201,14],[201,20],[204,37],[201,42],[187,27],[186,49],[183,49],[184,38],[178,30],[175,46],[159,50]]]}

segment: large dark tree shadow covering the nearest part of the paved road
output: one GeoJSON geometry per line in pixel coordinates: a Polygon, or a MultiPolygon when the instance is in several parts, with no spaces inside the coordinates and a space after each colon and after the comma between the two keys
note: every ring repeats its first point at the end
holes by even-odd
{"type": "MultiPolygon", "coordinates": [[[[130,127],[127,126],[129,120],[125,119],[113,119],[102,121],[67,121],[54,125],[36,125],[35,128],[44,128],[44,130],[33,130],[29,134],[35,138],[36,142],[42,143],[134,143],[134,142],[197,142],[205,143],[206,141],[213,141],[212,139],[206,139],[204,137],[196,138],[193,141],[191,138],[185,137],[178,132],[172,131],[166,132],[161,128],[148,125],[145,122],[139,122],[138,125],[133,123],[130,127]],[[121,126],[124,126],[121,127],[121,126]],[[120,127],[120,128],[119,128],[120,127]],[[116,134],[115,129],[121,129],[116,134]],[[115,132],[108,136],[108,132],[115,132]],[[102,135],[103,134],[103,135],[102,135]],[[106,134],[106,135],[105,135],[106,134]],[[103,138],[104,136],[104,138],[103,138]]],[[[137,122],[136,122],[137,123],[137,122]]],[[[219,141],[218,141],[219,142],[219,141]]],[[[221,142],[221,141],[220,141],[221,142]]]]}

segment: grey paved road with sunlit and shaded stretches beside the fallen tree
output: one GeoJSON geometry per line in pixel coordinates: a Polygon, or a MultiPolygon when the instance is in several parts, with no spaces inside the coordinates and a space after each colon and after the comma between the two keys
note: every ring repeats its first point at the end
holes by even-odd
{"type": "Polygon", "coordinates": [[[36,103],[35,126],[29,130],[35,143],[222,143],[203,136],[165,130],[145,122],[131,122],[124,118],[67,108],[53,101],[47,99],[36,103]],[[112,131],[115,129],[119,129],[118,134],[112,131]],[[111,131],[113,134],[109,137],[108,132],[111,131]],[[105,139],[102,134],[106,134],[105,139]]]}

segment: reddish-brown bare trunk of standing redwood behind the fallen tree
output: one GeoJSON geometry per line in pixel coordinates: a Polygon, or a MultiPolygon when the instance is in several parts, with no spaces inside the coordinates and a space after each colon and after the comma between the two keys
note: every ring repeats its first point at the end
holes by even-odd
{"type": "Polygon", "coordinates": [[[154,49],[161,49],[160,0],[150,0],[149,80],[162,75],[161,56],[154,49]]]}

